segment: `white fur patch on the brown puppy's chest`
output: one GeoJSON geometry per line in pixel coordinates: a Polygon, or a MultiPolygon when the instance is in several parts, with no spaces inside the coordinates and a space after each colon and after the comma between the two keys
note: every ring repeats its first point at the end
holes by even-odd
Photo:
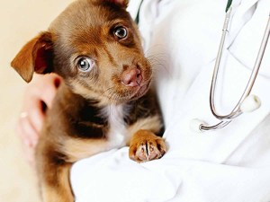
{"type": "Polygon", "coordinates": [[[127,129],[124,122],[125,111],[122,105],[110,105],[103,109],[109,124],[109,146],[118,147],[126,145],[127,129]]]}

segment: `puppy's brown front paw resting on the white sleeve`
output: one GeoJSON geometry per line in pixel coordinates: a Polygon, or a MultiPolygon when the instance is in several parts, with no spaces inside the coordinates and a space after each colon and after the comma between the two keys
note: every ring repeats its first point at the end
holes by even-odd
{"type": "Polygon", "coordinates": [[[164,139],[148,130],[139,130],[130,141],[130,159],[136,162],[159,159],[165,153],[164,139]]]}

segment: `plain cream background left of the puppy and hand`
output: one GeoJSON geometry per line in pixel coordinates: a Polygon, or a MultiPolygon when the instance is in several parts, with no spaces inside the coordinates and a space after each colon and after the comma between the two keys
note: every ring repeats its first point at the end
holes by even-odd
{"type": "Polygon", "coordinates": [[[10,67],[23,47],[72,0],[9,0],[0,6],[0,201],[39,202],[37,180],[14,127],[26,83],[10,67]]]}

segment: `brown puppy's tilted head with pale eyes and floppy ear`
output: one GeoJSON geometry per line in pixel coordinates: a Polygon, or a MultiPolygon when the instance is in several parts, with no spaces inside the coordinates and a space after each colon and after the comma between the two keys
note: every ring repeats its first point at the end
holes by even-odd
{"type": "Polygon", "coordinates": [[[34,72],[61,75],[73,92],[103,103],[139,98],[151,68],[127,0],[78,0],[29,41],[12,62],[30,82],[34,72]]]}

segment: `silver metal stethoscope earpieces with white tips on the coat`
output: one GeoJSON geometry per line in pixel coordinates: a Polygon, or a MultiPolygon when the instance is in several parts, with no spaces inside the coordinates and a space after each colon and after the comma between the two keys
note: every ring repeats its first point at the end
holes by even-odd
{"type": "Polygon", "coordinates": [[[237,118],[243,112],[251,112],[251,111],[257,110],[261,105],[259,98],[256,95],[250,94],[250,92],[251,92],[253,85],[255,83],[255,80],[257,78],[257,74],[258,74],[259,68],[261,66],[262,59],[263,59],[264,54],[265,54],[267,40],[269,38],[269,33],[270,33],[270,13],[268,16],[266,31],[265,31],[263,40],[261,42],[261,46],[259,48],[258,54],[257,54],[256,63],[254,65],[254,68],[253,68],[251,75],[249,77],[249,80],[247,82],[246,89],[243,92],[241,98],[239,99],[238,103],[233,108],[233,110],[231,110],[231,112],[227,115],[221,115],[215,108],[215,89],[216,89],[217,77],[219,75],[219,70],[220,70],[220,59],[222,57],[222,50],[224,47],[226,35],[229,32],[228,27],[229,27],[230,13],[232,11],[231,3],[232,3],[232,0],[229,0],[228,4],[226,6],[226,16],[225,16],[223,29],[222,29],[220,47],[218,50],[218,55],[216,57],[213,75],[212,75],[212,79],[211,79],[210,108],[211,108],[212,115],[216,119],[219,119],[219,122],[215,125],[208,125],[204,121],[202,121],[201,119],[192,119],[191,123],[190,123],[190,127],[193,131],[196,131],[196,132],[217,130],[217,129],[221,129],[223,127],[226,127],[233,119],[237,118]]]}

